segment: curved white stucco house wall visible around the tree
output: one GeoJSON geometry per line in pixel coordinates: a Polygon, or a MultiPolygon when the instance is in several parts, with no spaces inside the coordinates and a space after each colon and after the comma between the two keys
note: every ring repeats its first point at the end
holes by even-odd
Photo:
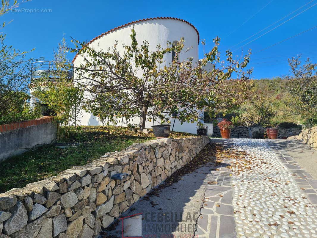
{"type": "MultiPolygon", "coordinates": [[[[136,38],[139,44],[146,40],[149,42],[149,50],[157,50],[157,45],[160,44],[162,47],[166,47],[167,41],[174,42],[178,41],[181,37],[184,37],[184,50],[190,48],[189,51],[180,54],[180,61],[187,60],[189,57],[193,58],[193,63],[198,63],[198,35],[195,28],[190,24],[177,20],[177,19],[152,19],[146,21],[140,21],[133,24],[120,27],[106,35],[97,38],[93,42],[89,43],[90,47],[94,49],[103,49],[107,51],[110,47],[112,48],[115,41],[118,41],[117,49],[123,52],[122,42],[129,45],[131,44],[131,29],[134,28],[136,32],[136,38]]],[[[165,64],[171,63],[171,53],[165,55],[164,63],[160,67],[164,67],[165,64]]],[[[78,67],[83,63],[83,58],[77,56],[74,60],[74,67],[78,67]]],[[[74,75],[76,78],[76,75],[74,75]]],[[[86,95],[89,96],[89,95],[86,95]]],[[[121,118],[118,118],[121,120],[121,118]]],[[[124,120],[126,121],[126,120],[124,120]]],[[[178,121],[178,120],[177,120],[178,121]]],[[[139,117],[130,120],[128,123],[139,124],[139,117]]],[[[80,123],[81,125],[102,125],[97,116],[82,111],[80,123]]],[[[124,123],[123,126],[126,126],[124,123]]],[[[151,128],[153,122],[146,122],[146,128],[151,128]]],[[[154,125],[160,124],[154,122],[154,125]]],[[[176,131],[184,131],[196,134],[196,123],[186,123],[180,125],[178,121],[177,126],[174,126],[176,131]]],[[[118,124],[121,126],[121,122],[118,124]]]]}

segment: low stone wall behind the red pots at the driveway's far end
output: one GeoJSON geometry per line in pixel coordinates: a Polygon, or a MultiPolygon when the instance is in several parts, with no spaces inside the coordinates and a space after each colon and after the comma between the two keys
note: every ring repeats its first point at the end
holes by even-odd
{"type": "MultiPolygon", "coordinates": [[[[231,129],[230,138],[249,138],[249,133],[252,127],[236,126],[231,129]]],[[[289,137],[301,133],[301,128],[287,128],[279,129],[278,138],[289,137]]],[[[220,129],[218,126],[213,128],[213,137],[221,137],[220,129]]]]}

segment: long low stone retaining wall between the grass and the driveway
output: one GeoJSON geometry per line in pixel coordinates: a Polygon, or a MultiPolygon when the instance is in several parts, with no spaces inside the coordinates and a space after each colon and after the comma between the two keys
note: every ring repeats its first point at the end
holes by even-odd
{"type": "Polygon", "coordinates": [[[0,194],[1,238],[91,238],[190,162],[207,136],[158,139],[0,194]],[[124,180],[112,180],[128,173],[124,180]]]}

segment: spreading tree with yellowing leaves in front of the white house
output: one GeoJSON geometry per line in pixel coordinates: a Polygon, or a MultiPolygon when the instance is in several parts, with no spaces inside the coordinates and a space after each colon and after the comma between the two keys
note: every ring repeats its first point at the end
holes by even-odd
{"type": "Polygon", "coordinates": [[[176,44],[167,42],[165,48],[158,45],[152,52],[149,42],[137,42],[133,29],[131,40],[130,45],[123,43],[124,50],[119,52],[118,42],[103,50],[73,39],[75,47],[71,51],[82,57],[74,71],[89,95],[86,110],[103,120],[116,122],[123,116],[127,120],[140,116],[143,129],[146,119],[168,122],[170,115],[176,113],[181,122],[197,122],[202,117],[200,110],[209,109],[212,113],[215,109],[232,109],[248,94],[252,70],[243,69],[250,53],[241,60],[227,51],[226,63],[221,63],[218,37],[201,64],[192,58],[176,63],[177,55],[174,62],[164,62],[166,54],[188,50],[184,49],[184,38],[176,44]],[[207,62],[215,65],[210,72],[203,70],[207,62]]]}

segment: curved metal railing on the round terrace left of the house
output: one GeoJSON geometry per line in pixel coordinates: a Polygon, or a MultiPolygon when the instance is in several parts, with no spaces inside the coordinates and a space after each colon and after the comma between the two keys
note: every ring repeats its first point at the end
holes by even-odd
{"type": "Polygon", "coordinates": [[[31,83],[46,79],[49,82],[56,82],[56,79],[61,75],[65,75],[70,82],[73,82],[74,68],[69,69],[67,65],[65,68],[57,68],[54,61],[36,61],[31,64],[31,83]]]}

